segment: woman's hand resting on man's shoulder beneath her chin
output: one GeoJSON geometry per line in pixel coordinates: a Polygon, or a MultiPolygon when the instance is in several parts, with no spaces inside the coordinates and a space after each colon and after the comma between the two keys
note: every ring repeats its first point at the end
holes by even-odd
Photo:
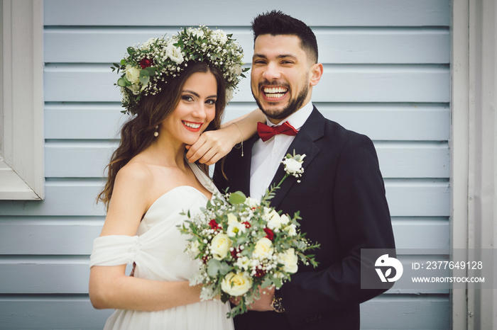
{"type": "Polygon", "coordinates": [[[241,142],[241,135],[236,125],[231,124],[220,130],[203,132],[191,146],[187,145],[186,157],[190,163],[212,165],[226,156],[235,144],[241,142]]]}

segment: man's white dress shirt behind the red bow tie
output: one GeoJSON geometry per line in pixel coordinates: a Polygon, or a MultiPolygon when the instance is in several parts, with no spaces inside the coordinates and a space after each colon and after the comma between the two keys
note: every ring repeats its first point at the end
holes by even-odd
{"type": "MultiPolygon", "coordinates": [[[[296,130],[300,130],[300,127],[304,125],[312,113],[313,108],[312,103],[309,102],[300,110],[282,120],[278,125],[288,121],[296,130]]],[[[269,126],[275,126],[267,118],[266,123],[269,126]]],[[[266,189],[269,188],[271,181],[273,181],[278,166],[280,166],[283,157],[287,154],[288,147],[292,144],[293,139],[295,139],[295,136],[279,134],[271,137],[266,142],[259,139],[253,144],[250,171],[251,198],[261,200],[266,193],[266,189]]],[[[290,150],[290,153],[293,153],[293,151],[290,150]]]]}

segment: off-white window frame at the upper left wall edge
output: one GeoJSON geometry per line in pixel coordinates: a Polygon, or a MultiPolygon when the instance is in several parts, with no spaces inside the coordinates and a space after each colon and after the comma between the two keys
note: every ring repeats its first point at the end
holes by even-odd
{"type": "Polygon", "coordinates": [[[43,0],[0,0],[0,11],[0,200],[42,200],[43,0]]]}

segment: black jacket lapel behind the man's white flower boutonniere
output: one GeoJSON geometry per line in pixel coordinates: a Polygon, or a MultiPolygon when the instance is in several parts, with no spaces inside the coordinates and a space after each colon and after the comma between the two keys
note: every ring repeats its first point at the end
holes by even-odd
{"type": "MultiPolygon", "coordinates": [[[[305,180],[305,169],[320,152],[320,148],[317,147],[315,141],[320,139],[323,135],[324,117],[317,111],[316,108],[314,108],[309,118],[307,118],[304,125],[302,125],[298,134],[295,136],[295,140],[293,140],[292,144],[290,144],[290,147],[288,147],[288,150],[285,153],[293,154],[293,151],[295,150],[295,154],[305,154],[305,159],[302,163],[302,167],[304,168],[302,180],[305,180]]],[[[285,170],[283,169],[283,164],[280,164],[273,181],[271,182],[271,186],[277,185],[283,176],[285,176],[285,170]]],[[[295,184],[298,184],[297,178],[288,176],[288,178],[283,181],[280,188],[275,190],[275,197],[271,200],[271,206],[278,209],[281,202],[285,199],[285,195],[288,194],[288,191],[290,191],[295,184]]],[[[298,186],[296,188],[298,188],[298,186]]]]}

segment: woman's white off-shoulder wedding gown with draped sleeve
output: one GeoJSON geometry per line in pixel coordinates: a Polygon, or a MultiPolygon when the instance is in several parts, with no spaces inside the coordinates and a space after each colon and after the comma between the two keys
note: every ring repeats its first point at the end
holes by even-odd
{"type": "MultiPolygon", "coordinates": [[[[195,164],[190,164],[200,183],[219,193],[214,183],[195,164]]],[[[94,240],[90,267],[136,263],[134,276],[149,280],[188,280],[198,271],[198,261],[184,252],[187,236],[178,224],[187,217],[180,212],[198,212],[207,197],[191,186],[179,186],[160,196],[146,212],[136,236],[105,236],[94,240]]],[[[220,300],[198,302],[158,312],[116,309],[104,329],[230,330],[226,319],[229,304],[220,300]]]]}

